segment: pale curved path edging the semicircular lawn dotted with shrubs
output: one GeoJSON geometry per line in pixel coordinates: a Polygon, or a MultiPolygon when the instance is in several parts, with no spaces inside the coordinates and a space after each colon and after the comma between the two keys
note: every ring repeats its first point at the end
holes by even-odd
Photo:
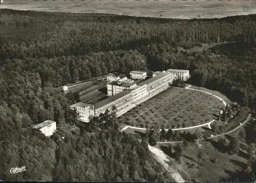
{"type": "MultiPolygon", "coordinates": [[[[185,87],[185,88],[186,88],[186,89],[191,89],[191,90],[196,90],[196,91],[201,91],[201,92],[203,92],[203,93],[212,95],[212,96],[218,98],[219,100],[221,100],[222,103],[224,104],[224,106],[227,105],[227,103],[226,103],[222,98],[220,98],[220,97],[218,97],[218,96],[216,96],[216,95],[213,95],[213,94],[211,94],[211,93],[209,93],[209,92],[207,92],[207,91],[203,91],[203,90],[199,90],[199,89],[193,89],[193,88],[189,88],[189,87],[191,87],[191,85],[188,85],[188,86],[185,87]]],[[[210,124],[211,124],[212,122],[214,122],[214,121],[215,121],[215,120],[212,120],[212,121],[210,121],[210,122],[208,122],[208,123],[204,123],[204,124],[200,124],[200,125],[196,125],[196,126],[185,127],[185,128],[174,128],[174,129],[172,129],[172,130],[187,130],[187,129],[191,129],[191,128],[198,128],[198,127],[206,126],[206,125],[208,126],[209,129],[211,129],[210,124]]],[[[146,128],[140,128],[140,127],[134,127],[134,126],[125,126],[125,127],[122,128],[120,131],[124,131],[124,130],[126,130],[127,128],[133,128],[133,129],[138,129],[138,130],[146,130],[146,128]]],[[[160,129],[160,131],[161,131],[161,130],[162,130],[162,129],[160,129]]],[[[168,131],[168,129],[165,129],[165,131],[168,131]]]]}

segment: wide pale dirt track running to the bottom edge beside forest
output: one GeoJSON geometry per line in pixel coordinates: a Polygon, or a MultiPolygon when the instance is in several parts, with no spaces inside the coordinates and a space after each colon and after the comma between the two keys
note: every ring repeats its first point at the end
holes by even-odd
{"type": "Polygon", "coordinates": [[[154,158],[158,163],[160,163],[166,171],[168,171],[174,178],[176,182],[185,182],[185,180],[181,177],[180,173],[172,168],[166,162],[169,162],[170,159],[164,152],[156,147],[148,145],[148,149],[155,155],[154,158]]]}

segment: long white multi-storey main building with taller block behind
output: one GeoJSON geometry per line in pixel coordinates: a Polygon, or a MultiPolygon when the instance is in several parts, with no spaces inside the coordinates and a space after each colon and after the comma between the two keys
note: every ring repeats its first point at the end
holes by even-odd
{"type": "Polygon", "coordinates": [[[173,82],[173,78],[172,73],[162,73],[139,84],[132,80],[129,81],[127,78],[122,78],[121,81],[117,79],[108,83],[108,94],[111,97],[94,105],[78,102],[71,105],[70,108],[77,110],[79,118],[83,122],[89,122],[89,116],[98,116],[106,109],[111,111],[112,106],[117,108],[118,117],[143,100],[145,101],[166,89],[173,82]]]}

